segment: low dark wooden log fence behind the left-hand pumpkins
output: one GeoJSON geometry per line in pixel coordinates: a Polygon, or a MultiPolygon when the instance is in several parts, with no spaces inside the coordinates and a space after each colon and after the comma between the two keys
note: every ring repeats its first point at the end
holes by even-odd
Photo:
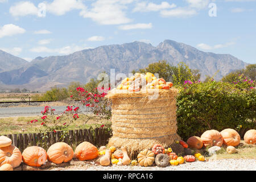
{"type": "Polygon", "coordinates": [[[84,141],[90,142],[97,147],[104,146],[108,143],[108,139],[112,136],[112,133],[104,128],[90,128],[56,131],[56,133],[51,131],[48,133],[9,134],[5,136],[13,140],[13,145],[18,147],[22,152],[29,146],[40,146],[48,150],[56,142],[68,143],[73,148],[84,141]]]}

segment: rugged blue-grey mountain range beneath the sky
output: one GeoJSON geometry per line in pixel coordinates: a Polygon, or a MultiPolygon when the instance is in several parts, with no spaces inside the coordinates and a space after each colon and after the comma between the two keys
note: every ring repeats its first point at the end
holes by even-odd
{"type": "Polygon", "coordinates": [[[201,80],[217,71],[214,78],[220,80],[247,65],[232,55],[203,52],[173,40],[164,40],[156,47],[144,42],[100,46],[65,56],[39,56],[31,62],[0,50],[0,90],[44,91],[55,85],[67,86],[72,81],[85,84],[103,71],[110,73],[110,69],[115,69],[116,74],[128,74],[159,60],[172,65],[183,61],[190,68],[200,70],[201,80]]]}

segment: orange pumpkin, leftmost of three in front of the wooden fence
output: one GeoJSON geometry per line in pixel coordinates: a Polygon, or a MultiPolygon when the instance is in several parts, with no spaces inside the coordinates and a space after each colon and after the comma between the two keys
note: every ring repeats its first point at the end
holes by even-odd
{"type": "Polygon", "coordinates": [[[47,153],[42,147],[31,146],[27,147],[22,152],[22,160],[28,166],[40,167],[47,160],[47,153]]]}

